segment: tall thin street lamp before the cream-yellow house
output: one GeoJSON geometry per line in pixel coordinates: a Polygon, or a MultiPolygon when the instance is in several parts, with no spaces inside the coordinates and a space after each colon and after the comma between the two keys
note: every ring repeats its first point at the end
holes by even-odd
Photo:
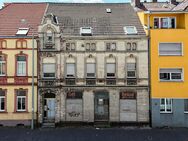
{"type": "Polygon", "coordinates": [[[25,19],[21,19],[21,23],[27,24],[32,30],[32,120],[31,120],[31,129],[34,129],[34,31],[33,27],[30,26],[25,19]]]}

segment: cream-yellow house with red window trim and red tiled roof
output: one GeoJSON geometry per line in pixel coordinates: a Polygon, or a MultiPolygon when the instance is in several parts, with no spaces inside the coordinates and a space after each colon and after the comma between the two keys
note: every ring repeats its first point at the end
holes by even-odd
{"type": "MultiPolygon", "coordinates": [[[[0,125],[30,125],[32,35],[46,4],[5,4],[0,10],[0,125]],[[35,15],[34,17],[32,15],[35,15]]],[[[34,39],[34,116],[37,113],[37,41],[34,39]]]]}

